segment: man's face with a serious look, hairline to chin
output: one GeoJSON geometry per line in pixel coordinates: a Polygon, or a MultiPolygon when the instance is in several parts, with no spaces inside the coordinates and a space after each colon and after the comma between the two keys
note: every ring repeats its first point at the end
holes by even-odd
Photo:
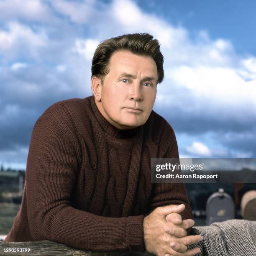
{"type": "Polygon", "coordinates": [[[100,86],[96,101],[102,115],[120,130],[143,125],[156,99],[157,68],[154,59],[130,51],[117,51],[110,58],[110,72],[100,86]]]}

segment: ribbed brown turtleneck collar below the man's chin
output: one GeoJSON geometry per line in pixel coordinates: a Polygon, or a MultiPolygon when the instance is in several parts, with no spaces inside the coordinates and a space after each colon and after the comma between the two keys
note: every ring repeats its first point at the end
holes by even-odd
{"type": "Polygon", "coordinates": [[[92,112],[94,113],[95,118],[97,119],[98,123],[100,124],[100,127],[103,131],[105,131],[105,133],[108,133],[110,136],[115,138],[128,139],[135,137],[136,134],[140,132],[142,126],[138,126],[136,128],[127,130],[120,130],[116,128],[111,123],[109,123],[108,120],[105,119],[104,116],[100,113],[100,110],[97,108],[97,105],[95,103],[95,97],[90,96],[89,101],[92,112]]]}

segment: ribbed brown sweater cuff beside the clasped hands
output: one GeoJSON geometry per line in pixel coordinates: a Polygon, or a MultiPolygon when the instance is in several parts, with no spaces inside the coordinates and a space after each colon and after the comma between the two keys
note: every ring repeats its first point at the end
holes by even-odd
{"type": "Polygon", "coordinates": [[[145,251],[143,219],[143,215],[128,217],[126,232],[130,251],[145,251]]]}

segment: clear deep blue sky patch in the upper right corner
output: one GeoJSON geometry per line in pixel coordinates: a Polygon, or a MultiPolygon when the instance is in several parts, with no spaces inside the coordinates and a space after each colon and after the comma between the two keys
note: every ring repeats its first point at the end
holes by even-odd
{"type": "Polygon", "coordinates": [[[212,39],[231,40],[240,54],[256,55],[256,2],[253,0],[137,0],[149,13],[159,13],[191,34],[207,30],[212,39]]]}

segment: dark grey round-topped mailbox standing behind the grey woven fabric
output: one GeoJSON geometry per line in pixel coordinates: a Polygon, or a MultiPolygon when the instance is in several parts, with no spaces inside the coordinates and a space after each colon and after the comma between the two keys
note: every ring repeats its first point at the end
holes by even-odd
{"type": "Polygon", "coordinates": [[[235,204],[224,189],[220,188],[219,192],[213,193],[206,203],[206,225],[213,222],[222,222],[235,218],[235,204]]]}

